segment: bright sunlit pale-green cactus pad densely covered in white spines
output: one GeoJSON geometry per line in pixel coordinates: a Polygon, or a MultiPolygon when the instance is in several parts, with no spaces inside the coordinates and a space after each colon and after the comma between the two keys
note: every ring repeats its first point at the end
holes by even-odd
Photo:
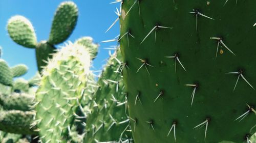
{"type": "Polygon", "coordinates": [[[67,142],[87,83],[90,55],[70,43],[48,63],[36,92],[35,122],[42,142],[67,142]]]}

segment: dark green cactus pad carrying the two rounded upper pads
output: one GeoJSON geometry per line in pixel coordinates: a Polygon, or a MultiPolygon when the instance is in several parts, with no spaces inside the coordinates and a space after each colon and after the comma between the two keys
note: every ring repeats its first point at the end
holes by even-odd
{"type": "Polygon", "coordinates": [[[54,53],[55,50],[56,48],[47,41],[41,41],[36,45],[36,63],[39,72],[41,72],[47,65],[48,59],[52,58],[52,53],[54,53]]]}

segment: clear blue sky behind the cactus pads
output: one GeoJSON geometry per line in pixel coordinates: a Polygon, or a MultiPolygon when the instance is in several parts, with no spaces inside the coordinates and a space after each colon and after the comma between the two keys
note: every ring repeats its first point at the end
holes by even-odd
{"type": "MultiPolygon", "coordinates": [[[[79,17],[73,34],[67,41],[74,42],[82,36],[93,37],[96,43],[109,40],[119,34],[119,23],[105,34],[105,31],[117,18],[114,13],[120,4],[109,4],[114,0],[77,0],[79,17]]],[[[2,59],[6,60],[9,66],[26,64],[29,72],[23,76],[31,78],[37,71],[35,60],[35,49],[25,48],[17,45],[8,36],[6,24],[8,19],[14,15],[23,15],[33,24],[37,41],[47,40],[50,33],[51,23],[57,6],[64,2],[62,0],[0,0],[0,46],[3,47],[2,59]]],[[[67,42],[66,41],[66,42],[67,42]]],[[[62,45],[62,44],[60,44],[62,45]]],[[[59,45],[59,46],[60,46],[59,45]]],[[[100,43],[99,54],[94,61],[95,70],[102,68],[104,59],[108,58],[108,50],[104,49],[116,43],[100,43]]]]}

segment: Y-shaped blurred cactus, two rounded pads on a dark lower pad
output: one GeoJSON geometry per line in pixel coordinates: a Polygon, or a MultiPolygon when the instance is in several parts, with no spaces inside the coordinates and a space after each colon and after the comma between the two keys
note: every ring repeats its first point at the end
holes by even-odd
{"type": "Polygon", "coordinates": [[[27,48],[36,49],[37,68],[41,72],[52,58],[56,44],[64,42],[73,32],[78,18],[78,9],[73,2],[63,2],[55,12],[50,38],[37,43],[33,25],[24,16],[13,16],[7,24],[7,30],[14,42],[27,48]]]}

